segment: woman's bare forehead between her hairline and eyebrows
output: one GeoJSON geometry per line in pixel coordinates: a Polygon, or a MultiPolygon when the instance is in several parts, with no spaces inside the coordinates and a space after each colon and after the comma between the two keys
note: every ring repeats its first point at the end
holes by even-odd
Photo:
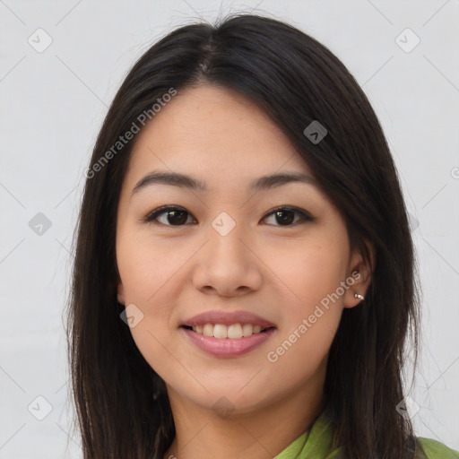
{"type": "Polygon", "coordinates": [[[220,86],[179,90],[137,135],[128,173],[132,181],[151,169],[193,173],[212,187],[284,169],[311,175],[264,111],[220,86]]]}

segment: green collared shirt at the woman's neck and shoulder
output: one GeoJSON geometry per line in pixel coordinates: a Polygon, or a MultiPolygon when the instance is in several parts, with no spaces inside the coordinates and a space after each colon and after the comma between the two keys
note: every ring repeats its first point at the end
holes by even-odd
{"type": "MultiPolygon", "coordinates": [[[[333,429],[325,411],[313,425],[274,459],[339,459],[342,447],[333,448],[333,429]]],[[[418,438],[426,459],[459,459],[459,453],[437,440],[418,438]]]]}

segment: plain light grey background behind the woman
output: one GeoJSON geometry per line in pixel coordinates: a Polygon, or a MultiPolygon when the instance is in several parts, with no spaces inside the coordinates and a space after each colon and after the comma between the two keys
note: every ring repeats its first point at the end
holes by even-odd
{"type": "Polygon", "coordinates": [[[62,315],[83,170],[134,60],[179,25],[235,11],[319,39],[375,108],[420,259],[424,333],[411,393],[420,408],[411,415],[420,437],[459,449],[457,1],[0,0],[0,458],[81,457],[62,315]],[[28,42],[46,43],[39,28],[52,39],[41,53],[28,42]],[[415,43],[410,32],[396,41],[406,28],[420,39],[410,52],[399,46],[415,43]],[[41,235],[29,226],[38,212],[51,222],[41,235]]]}

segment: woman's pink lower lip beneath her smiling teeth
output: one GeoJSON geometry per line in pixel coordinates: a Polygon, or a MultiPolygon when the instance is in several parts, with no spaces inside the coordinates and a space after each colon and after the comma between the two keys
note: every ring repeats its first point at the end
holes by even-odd
{"type": "Polygon", "coordinates": [[[195,345],[204,352],[216,357],[238,357],[253,351],[261,346],[266,340],[269,340],[275,328],[269,328],[263,333],[254,333],[244,338],[232,340],[230,338],[214,338],[213,336],[204,336],[187,328],[181,328],[195,345]]]}

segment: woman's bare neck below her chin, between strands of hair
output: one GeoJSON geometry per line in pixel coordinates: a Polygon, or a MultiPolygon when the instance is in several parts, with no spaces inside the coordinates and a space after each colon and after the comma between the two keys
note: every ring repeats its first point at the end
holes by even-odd
{"type": "Polygon", "coordinates": [[[163,459],[273,458],[316,420],[324,407],[323,383],[289,394],[261,410],[233,411],[226,418],[168,386],[176,437],[163,459]]]}

